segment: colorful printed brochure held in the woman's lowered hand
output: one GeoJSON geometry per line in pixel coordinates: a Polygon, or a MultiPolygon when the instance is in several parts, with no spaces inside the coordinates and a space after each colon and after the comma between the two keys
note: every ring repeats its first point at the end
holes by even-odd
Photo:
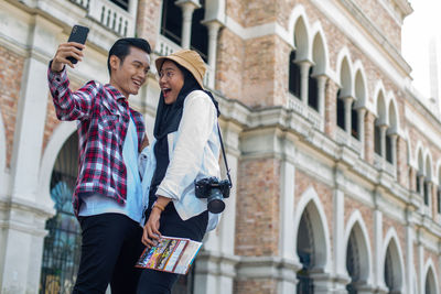
{"type": "Polygon", "coordinates": [[[158,246],[146,248],[135,266],[186,274],[202,242],[162,236],[158,246]]]}

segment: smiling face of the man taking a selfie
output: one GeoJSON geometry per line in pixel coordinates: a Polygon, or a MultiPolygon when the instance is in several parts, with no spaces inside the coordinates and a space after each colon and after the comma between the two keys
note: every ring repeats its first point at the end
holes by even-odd
{"type": "Polygon", "coordinates": [[[131,46],[123,62],[116,55],[110,56],[110,84],[129,98],[129,95],[137,95],[146,83],[150,57],[142,50],[131,46]]]}

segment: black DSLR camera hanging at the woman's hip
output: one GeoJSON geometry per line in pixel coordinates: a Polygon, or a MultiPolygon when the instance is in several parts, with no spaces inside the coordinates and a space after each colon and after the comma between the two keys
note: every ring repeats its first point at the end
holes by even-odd
{"type": "Polygon", "coordinates": [[[205,177],[194,181],[194,189],[197,198],[206,198],[208,211],[220,214],[225,209],[224,198],[229,197],[232,185],[228,179],[219,182],[217,177],[205,177]]]}

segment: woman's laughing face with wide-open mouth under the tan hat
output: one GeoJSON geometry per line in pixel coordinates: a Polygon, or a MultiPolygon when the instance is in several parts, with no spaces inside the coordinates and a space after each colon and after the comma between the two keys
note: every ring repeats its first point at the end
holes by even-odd
{"type": "Polygon", "coordinates": [[[184,74],[173,62],[165,61],[162,64],[161,72],[159,72],[159,86],[166,105],[176,101],[178,95],[184,86],[184,74]]]}

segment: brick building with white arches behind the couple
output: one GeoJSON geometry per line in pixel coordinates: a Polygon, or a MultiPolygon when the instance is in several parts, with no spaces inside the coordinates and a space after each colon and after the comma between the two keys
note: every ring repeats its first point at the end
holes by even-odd
{"type": "MultiPolygon", "coordinates": [[[[201,52],[234,189],[178,293],[441,293],[441,120],[400,54],[407,0],[0,0],[0,291],[65,293],[75,122],[47,63],[90,28],[72,87],[120,36],[201,52]]],[[[154,68],[131,104],[149,135],[154,68]]]]}

